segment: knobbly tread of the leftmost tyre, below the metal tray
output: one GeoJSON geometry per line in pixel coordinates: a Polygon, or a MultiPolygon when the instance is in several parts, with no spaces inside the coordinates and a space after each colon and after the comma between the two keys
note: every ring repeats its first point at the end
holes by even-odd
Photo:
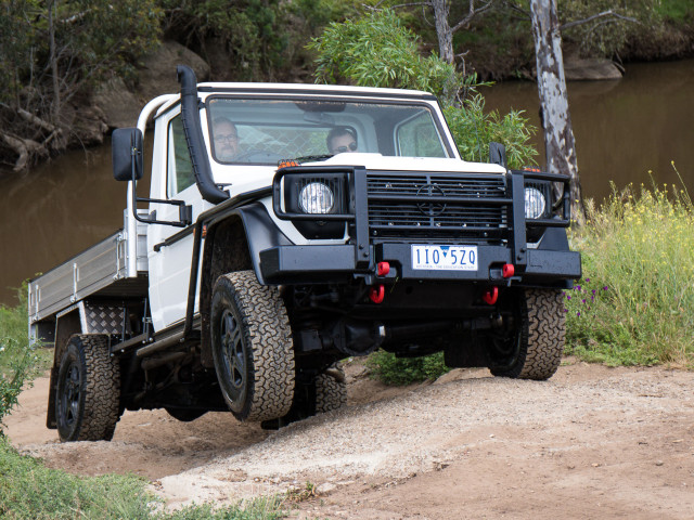
{"type": "Polygon", "coordinates": [[[67,348],[75,346],[83,355],[83,412],[72,441],[111,441],[120,419],[120,368],[108,353],[108,338],[100,334],[74,335],[67,348]]]}

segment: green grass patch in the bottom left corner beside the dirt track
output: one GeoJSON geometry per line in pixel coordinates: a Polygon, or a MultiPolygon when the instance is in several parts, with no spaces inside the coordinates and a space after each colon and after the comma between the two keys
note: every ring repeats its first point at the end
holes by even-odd
{"type": "Polygon", "coordinates": [[[162,512],[159,500],[139,477],[105,474],[82,478],[48,469],[22,456],[0,438],[0,517],[11,520],[162,519],[274,520],[284,518],[279,497],[261,497],[235,506],[189,506],[162,512]]]}

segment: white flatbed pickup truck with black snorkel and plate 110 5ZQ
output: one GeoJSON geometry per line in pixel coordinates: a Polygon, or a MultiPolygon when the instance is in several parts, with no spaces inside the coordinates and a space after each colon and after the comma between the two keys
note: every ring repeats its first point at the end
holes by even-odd
{"type": "Polygon", "coordinates": [[[343,405],[338,361],[378,348],[554,374],[581,273],[568,179],[506,169],[502,145],[462,160],[424,92],[178,78],[113,134],[123,230],[29,283],[62,441],[157,407],[278,428],[343,405]]]}

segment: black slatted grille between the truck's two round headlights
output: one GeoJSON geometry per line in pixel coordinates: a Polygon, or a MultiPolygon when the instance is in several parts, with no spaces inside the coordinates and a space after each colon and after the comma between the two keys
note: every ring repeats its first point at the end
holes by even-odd
{"type": "Polygon", "coordinates": [[[503,177],[370,173],[367,188],[372,236],[488,239],[507,232],[503,177]]]}

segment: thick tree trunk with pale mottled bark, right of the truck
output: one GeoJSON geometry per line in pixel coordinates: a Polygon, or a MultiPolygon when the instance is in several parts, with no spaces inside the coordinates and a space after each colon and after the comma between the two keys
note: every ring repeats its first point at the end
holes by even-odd
{"type": "Polygon", "coordinates": [[[552,173],[571,178],[571,218],[576,224],[582,225],[586,213],[578,177],[576,141],[568,112],[556,0],[530,0],[530,12],[547,167],[552,173]]]}

